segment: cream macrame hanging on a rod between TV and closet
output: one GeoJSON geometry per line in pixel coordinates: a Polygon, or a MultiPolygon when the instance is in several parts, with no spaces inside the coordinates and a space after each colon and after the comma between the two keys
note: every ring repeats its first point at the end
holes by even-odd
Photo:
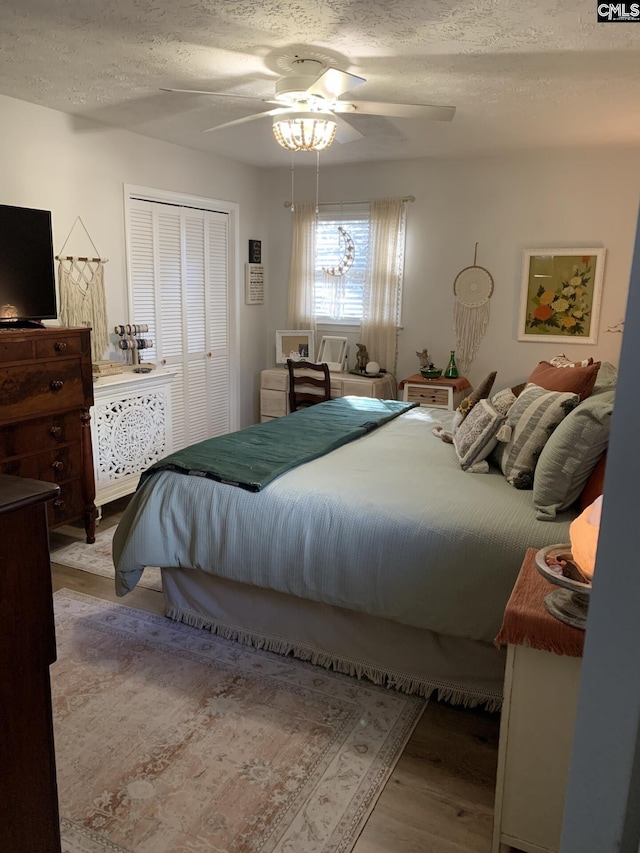
{"type": "Polygon", "coordinates": [[[71,226],[56,260],[60,282],[60,321],[63,326],[91,326],[91,358],[94,362],[100,361],[109,346],[104,295],[104,265],[107,258],[100,257],[96,244],[79,216],[71,226]],[[97,257],[62,254],[78,223],[84,228],[97,257]]]}

